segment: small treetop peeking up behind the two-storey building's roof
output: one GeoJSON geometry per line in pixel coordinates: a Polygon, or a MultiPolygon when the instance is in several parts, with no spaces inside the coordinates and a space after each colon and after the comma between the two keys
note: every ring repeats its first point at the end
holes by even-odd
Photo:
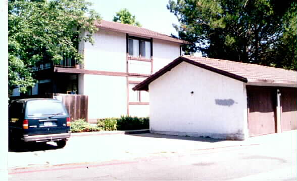
{"type": "Polygon", "coordinates": [[[126,8],[121,9],[119,12],[117,12],[116,16],[114,16],[113,21],[141,27],[140,23],[135,20],[135,15],[132,16],[126,8]]]}

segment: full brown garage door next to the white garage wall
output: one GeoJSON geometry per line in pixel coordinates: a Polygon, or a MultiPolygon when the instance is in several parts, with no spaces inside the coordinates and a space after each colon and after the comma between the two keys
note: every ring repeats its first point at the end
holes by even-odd
{"type": "Polygon", "coordinates": [[[276,90],[256,86],[246,88],[250,136],[275,133],[276,90]]]}

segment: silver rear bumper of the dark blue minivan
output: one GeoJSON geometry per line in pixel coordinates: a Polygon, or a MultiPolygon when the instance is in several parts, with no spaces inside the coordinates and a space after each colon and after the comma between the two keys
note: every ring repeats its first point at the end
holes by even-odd
{"type": "Polygon", "coordinates": [[[69,138],[71,133],[59,133],[59,134],[46,134],[46,135],[23,135],[22,140],[25,142],[36,141],[36,142],[45,142],[45,141],[59,141],[69,138]]]}

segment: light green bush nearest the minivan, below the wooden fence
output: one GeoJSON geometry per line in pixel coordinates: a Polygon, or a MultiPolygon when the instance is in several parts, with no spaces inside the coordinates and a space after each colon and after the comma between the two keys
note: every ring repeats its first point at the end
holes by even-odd
{"type": "Polygon", "coordinates": [[[93,126],[87,122],[85,122],[84,119],[78,119],[74,122],[71,122],[70,125],[71,132],[89,132],[89,131],[102,131],[100,127],[97,127],[96,125],[93,126]]]}

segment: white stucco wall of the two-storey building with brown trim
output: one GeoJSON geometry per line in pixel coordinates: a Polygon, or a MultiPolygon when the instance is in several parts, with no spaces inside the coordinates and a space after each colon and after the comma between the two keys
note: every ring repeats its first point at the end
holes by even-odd
{"type": "MultiPolygon", "coordinates": [[[[84,69],[126,72],[126,34],[101,29],[93,35],[93,38],[94,45],[88,42],[80,44],[80,52],[84,55],[84,69]]],[[[154,71],[157,71],[179,56],[179,44],[154,39],[153,53],[154,71]]],[[[151,73],[150,62],[129,60],[128,65],[129,72],[151,73]]],[[[129,77],[129,80],[133,81],[143,79],[129,77]]],[[[126,77],[79,75],[79,94],[89,97],[88,119],[126,115],[126,83],[126,77]]],[[[145,99],[147,100],[149,99],[145,99]]],[[[149,105],[129,105],[131,116],[149,116],[149,112],[149,105]]]]}

